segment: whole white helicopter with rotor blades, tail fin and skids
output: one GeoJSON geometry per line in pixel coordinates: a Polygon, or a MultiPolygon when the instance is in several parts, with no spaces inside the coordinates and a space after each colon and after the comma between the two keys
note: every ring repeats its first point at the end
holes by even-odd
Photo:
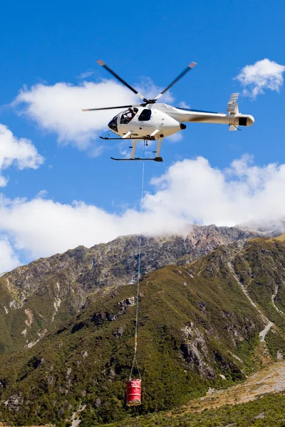
{"type": "Polygon", "coordinates": [[[103,108],[88,108],[82,111],[98,111],[98,110],[116,110],[127,109],[119,112],[108,123],[108,127],[118,137],[100,137],[101,139],[132,139],[132,152],[130,158],[117,159],[111,157],[113,160],[135,161],[135,160],[154,160],[155,162],[163,162],[160,157],[160,147],[162,139],[170,135],[186,129],[184,122],[190,123],[217,123],[221,125],[228,125],[229,130],[238,130],[239,126],[251,126],[254,124],[254,117],[252,115],[244,115],[239,113],[237,100],[239,93],[232,93],[227,103],[227,112],[212,112],[204,110],[193,110],[190,108],[173,107],[163,103],[157,103],[157,100],[164,95],[167,90],[170,90],[178,80],[180,80],[186,73],[195,68],[197,63],[192,62],[188,65],[175,80],[170,83],[161,93],[153,99],[147,99],[138,90],[130,86],[123,78],[120,78],[115,71],[111,70],[103,60],[98,60],[97,63],[105,68],[116,79],[123,83],[133,93],[138,95],[142,100],[140,105],[120,105],[117,107],[103,107],[103,108]],[[138,140],[155,141],[157,140],[157,149],[153,152],[155,157],[140,158],[135,157],[135,147],[138,140]]]}

